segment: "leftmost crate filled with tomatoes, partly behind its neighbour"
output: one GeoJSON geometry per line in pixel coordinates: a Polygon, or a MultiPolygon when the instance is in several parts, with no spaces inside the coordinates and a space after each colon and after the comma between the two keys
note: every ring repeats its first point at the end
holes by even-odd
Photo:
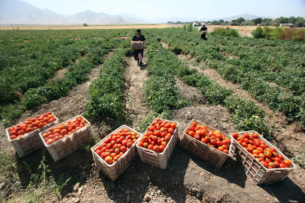
{"type": "Polygon", "coordinates": [[[27,121],[6,128],[6,135],[17,154],[23,157],[43,146],[39,133],[58,124],[58,118],[52,113],[37,115],[27,121]]]}

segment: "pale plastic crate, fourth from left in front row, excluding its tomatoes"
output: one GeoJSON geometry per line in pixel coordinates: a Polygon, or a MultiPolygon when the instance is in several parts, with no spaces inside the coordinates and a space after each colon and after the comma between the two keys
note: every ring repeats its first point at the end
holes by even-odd
{"type": "MultiPolygon", "coordinates": [[[[155,122],[156,119],[154,119],[153,122],[155,122]]],[[[179,123],[176,121],[164,120],[164,119],[161,119],[161,121],[174,122],[177,124],[177,128],[174,130],[174,134],[173,134],[172,138],[170,139],[170,141],[165,146],[164,151],[161,153],[155,152],[153,150],[149,150],[144,147],[140,147],[138,145],[137,145],[137,148],[138,148],[138,152],[139,152],[142,162],[145,162],[152,166],[156,166],[160,169],[166,169],[167,164],[170,161],[170,157],[173,154],[174,149],[175,149],[178,139],[179,139],[179,133],[178,133],[179,123]]],[[[147,130],[145,132],[147,132],[147,130]]],[[[142,140],[142,137],[143,137],[143,135],[139,139],[142,140]]]]}

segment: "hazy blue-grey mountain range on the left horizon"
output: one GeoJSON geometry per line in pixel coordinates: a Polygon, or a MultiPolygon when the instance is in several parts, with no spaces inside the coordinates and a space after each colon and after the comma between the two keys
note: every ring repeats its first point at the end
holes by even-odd
{"type": "Polygon", "coordinates": [[[75,15],[59,15],[48,9],[40,9],[19,0],[0,0],[0,24],[125,24],[148,23],[127,15],[96,13],[89,9],[75,15]]]}

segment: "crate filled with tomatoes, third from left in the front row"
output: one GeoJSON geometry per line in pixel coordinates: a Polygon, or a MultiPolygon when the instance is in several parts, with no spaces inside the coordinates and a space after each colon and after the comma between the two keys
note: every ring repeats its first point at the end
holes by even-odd
{"type": "Polygon", "coordinates": [[[91,148],[95,166],[110,180],[116,180],[138,156],[141,134],[122,125],[91,148]]]}

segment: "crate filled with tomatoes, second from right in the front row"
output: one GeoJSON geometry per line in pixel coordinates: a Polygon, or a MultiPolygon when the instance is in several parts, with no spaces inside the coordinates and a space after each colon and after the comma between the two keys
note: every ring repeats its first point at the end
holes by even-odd
{"type": "Polygon", "coordinates": [[[193,119],[183,131],[180,147],[219,169],[229,156],[230,144],[228,135],[193,119]]]}

